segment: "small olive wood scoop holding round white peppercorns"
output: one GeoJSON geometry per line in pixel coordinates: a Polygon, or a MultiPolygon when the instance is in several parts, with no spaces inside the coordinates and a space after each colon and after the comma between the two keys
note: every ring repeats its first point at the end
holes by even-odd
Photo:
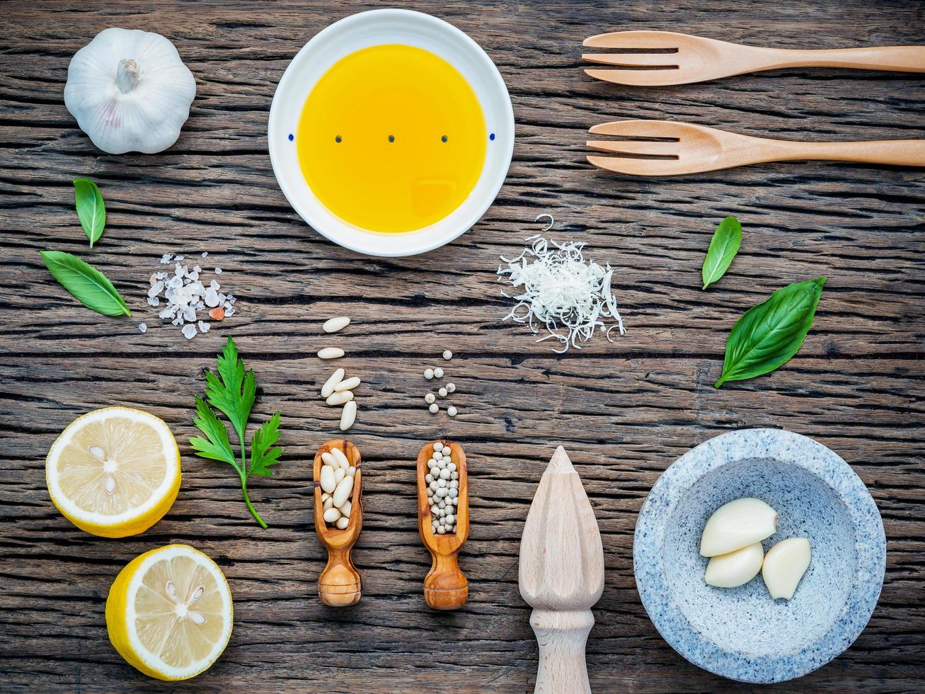
{"type": "Polygon", "coordinates": [[[457,610],[469,597],[469,584],[460,570],[457,559],[462,545],[469,537],[469,476],[465,452],[457,443],[441,440],[444,450],[450,449],[450,460],[460,474],[459,504],[456,506],[456,531],[439,535],[431,526],[430,506],[427,503],[427,461],[434,453],[434,444],[425,444],[417,456],[417,528],[424,546],[430,551],[433,562],[424,579],[424,600],[434,610],[457,610]]]}

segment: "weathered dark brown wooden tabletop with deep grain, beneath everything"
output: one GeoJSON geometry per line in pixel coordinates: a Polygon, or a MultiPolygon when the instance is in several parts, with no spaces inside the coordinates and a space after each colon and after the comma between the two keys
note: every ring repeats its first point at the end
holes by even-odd
{"type": "Polygon", "coordinates": [[[0,688],[163,689],[106,638],[106,592],[119,569],[168,542],[216,559],[235,598],[228,650],[184,690],[524,691],[536,641],[517,589],[524,517],[563,443],[585,480],[604,541],[607,583],[587,660],[596,691],[732,691],[659,637],[636,594],[633,529],[660,473],[723,431],[780,427],[854,466],[883,515],[889,546],[880,604],[857,642],[795,682],[763,691],[921,691],[925,677],[925,485],[921,427],[922,170],[837,164],[748,167],[676,180],[608,175],[585,162],[586,129],[616,118],[689,119],[794,138],[925,136],[913,75],[788,69],[649,90],[592,81],[581,40],[660,28],[775,46],[922,43],[925,6],[868,0],[771,5],[685,0],[454,2],[413,6],[481,43],[511,90],[517,142],[507,183],[459,241],[379,260],[320,238],[290,209],[266,153],[270,100],[290,57],[330,22],[372,6],[289,3],[6,2],[0,14],[0,688]],[[197,81],[179,142],[160,155],[105,155],[65,109],[68,60],[105,27],[157,31],[197,81]],[[104,192],[103,241],[86,248],[71,179],[104,192]],[[557,357],[522,326],[499,323],[499,254],[516,253],[539,213],[619,268],[627,326],[609,344],[557,357]],[[700,290],[710,234],[739,217],[745,242],[728,275],[700,290]],[[97,316],[45,271],[38,252],[80,254],[114,279],[130,319],[97,316]],[[184,340],[144,301],[166,252],[209,252],[239,313],[184,340]],[[737,316],[791,281],[828,276],[816,323],[787,366],[713,390],[737,316]],[[317,599],[325,551],[309,494],[316,447],[337,433],[315,393],[327,316],[364,376],[351,440],[364,453],[364,531],[356,606],[317,599]],[[137,325],[149,329],[140,334],[137,325]],[[261,530],[233,472],[191,454],[192,398],[228,334],[260,383],[257,411],[283,415],[283,463],[253,484],[261,530]],[[421,373],[438,354],[460,415],[429,415],[421,373]],[[183,484],[143,535],[101,539],[49,502],[44,455],[77,415],[142,407],[173,428],[183,484]],[[415,522],[413,462],[445,435],[469,456],[473,526],[462,553],[471,597],[432,613],[429,557],[415,522]]]}

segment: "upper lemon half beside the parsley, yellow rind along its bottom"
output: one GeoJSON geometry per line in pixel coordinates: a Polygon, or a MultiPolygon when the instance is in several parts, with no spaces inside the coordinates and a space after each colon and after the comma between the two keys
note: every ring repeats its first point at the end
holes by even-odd
{"type": "Polygon", "coordinates": [[[165,422],[129,407],[75,419],[45,459],[48,493],[75,526],[105,538],[137,535],[179,491],[179,448],[165,422]]]}

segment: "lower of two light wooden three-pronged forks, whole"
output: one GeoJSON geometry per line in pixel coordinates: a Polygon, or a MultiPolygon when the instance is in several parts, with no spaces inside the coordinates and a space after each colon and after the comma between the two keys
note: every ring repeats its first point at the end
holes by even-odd
{"type": "Polygon", "coordinates": [[[925,167],[925,140],[803,143],[751,137],[667,120],[618,120],[596,125],[589,132],[623,138],[589,140],[587,146],[591,149],[615,155],[589,155],[587,160],[591,164],[634,176],[678,176],[798,159],[925,167]]]}

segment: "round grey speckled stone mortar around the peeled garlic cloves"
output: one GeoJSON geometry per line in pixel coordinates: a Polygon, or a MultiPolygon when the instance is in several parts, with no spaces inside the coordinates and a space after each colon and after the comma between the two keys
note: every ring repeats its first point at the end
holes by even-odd
{"type": "Polygon", "coordinates": [[[780,429],[743,429],[686,452],[655,483],[636,522],[636,587],[662,638],[691,663],[742,682],[806,675],[845,651],[873,613],[886,539],[870,492],[838,455],[780,429]],[[762,544],[806,537],[812,560],[793,600],[761,576],[708,586],[699,553],[723,503],[757,497],[780,515],[762,544]]]}

